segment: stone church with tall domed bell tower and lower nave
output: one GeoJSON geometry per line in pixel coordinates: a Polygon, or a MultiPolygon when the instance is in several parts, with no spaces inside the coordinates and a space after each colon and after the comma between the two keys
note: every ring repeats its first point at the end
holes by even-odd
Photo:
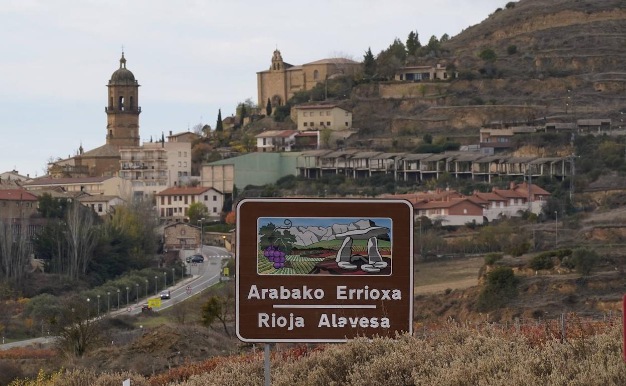
{"type": "Polygon", "coordinates": [[[120,68],[107,84],[106,144],[89,151],[81,145],[78,154],[49,165],[52,178],[115,176],[120,170],[120,148],[139,146],[139,84],[126,69],[121,54],[120,68]]]}

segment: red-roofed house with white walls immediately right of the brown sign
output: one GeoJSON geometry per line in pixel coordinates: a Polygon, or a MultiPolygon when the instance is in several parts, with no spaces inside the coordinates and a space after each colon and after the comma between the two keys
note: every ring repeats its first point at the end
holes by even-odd
{"type": "Polygon", "coordinates": [[[421,201],[413,205],[415,216],[426,216],[441,225],[483,223],[483,205],[469,198],[448,198],[444,201],[421,201]]]}

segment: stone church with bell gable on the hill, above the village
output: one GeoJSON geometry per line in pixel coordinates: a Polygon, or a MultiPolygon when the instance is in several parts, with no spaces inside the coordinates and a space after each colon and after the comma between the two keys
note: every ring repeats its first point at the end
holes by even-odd
{"type": "Polygon", "coordinates": [[[267,99],[272,101],[272,108],[281,106],[296,91],[312,89],[326,78],[353,75],[360,68],[361,63],[344,58],[321,59],[294,66],[285,63],[277,49],[270,68],[257,73],[259,107],[265,109],[267,99]]]}

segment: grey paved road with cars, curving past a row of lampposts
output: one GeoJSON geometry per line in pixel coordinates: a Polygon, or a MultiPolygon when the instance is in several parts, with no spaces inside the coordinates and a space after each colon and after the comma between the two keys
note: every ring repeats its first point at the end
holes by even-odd
{"type": "MultiPolygon", "coordinates": [[[[203,263],[197,263],[197,265],[193,266],[188,264],[187,273],[191,273],[192,275],[200,275],[195,278],[193,282],[186,283],[185,285],[180,286],[177,283],[178,288],[170,287],[170,292],[172,298],[169,300],[162,300],[160,308],[153,308],[155,311],[163,311],[167,308],[172,307],[175,303],[181,302],[193,295],[205,290],[206,288],[212,286],[213,284],[220,281],[220,273],[222,270],[222,259],[228,258],[232,256],[230,252],[225,250],[220,246],[210,246],[203,245],[202,246],[202,255],[205,257],[203,263]],[[187,294],[187,286],[192,288],[191,294],[187,294]]],[[[144,299],[145,301],[145,299],[144,299]]],[[[140,303],[141,305],[141,303],[140,303]]],[[[141,307],[133,304],[131,305],[131,312],[111,312],[112,316],[116,315],[137,315],[141,313],[141,307]]],[[[20,340],[19,342],[6,343],[4,345],[0,345],[0,350],[7,350],[8,348],[13,347],[24,347],[34,343],[48,343],[50,340],[54,338],[33,338],[29,340],[20,340]]],[[[0,341],[1,342],[1,341],[0,341]]]]}

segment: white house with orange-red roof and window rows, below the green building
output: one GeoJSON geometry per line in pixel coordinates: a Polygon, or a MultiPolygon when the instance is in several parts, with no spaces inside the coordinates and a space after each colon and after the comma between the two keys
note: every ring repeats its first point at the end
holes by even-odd
{"type": "Polygon", "coordinates": [[[156,193],[156,210],[161,220],[189,221],[189,206],[197,202],[207,206],[207,217],[215,218],[222,211],[224,196],[210,186],[174,187],[156,193]]]}

